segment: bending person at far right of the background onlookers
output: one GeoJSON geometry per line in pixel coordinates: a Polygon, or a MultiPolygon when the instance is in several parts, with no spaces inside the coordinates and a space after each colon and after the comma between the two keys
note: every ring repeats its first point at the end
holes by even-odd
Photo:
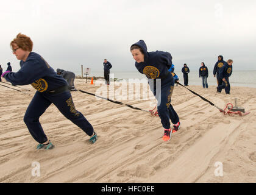
{"type": "Polygon", "coordinates": [[[221,90],[225,88],[226,94],[230,94],[230,83],[229,83],[229,77],[232,74],[232,63],[233,60],[229,59],[226,63],[222,66],[222,68],[219,70],[219,77],[222,79],[223,83],[222,85],[219,85],[217,87],[217,92],[221,93],[221,90]]]}

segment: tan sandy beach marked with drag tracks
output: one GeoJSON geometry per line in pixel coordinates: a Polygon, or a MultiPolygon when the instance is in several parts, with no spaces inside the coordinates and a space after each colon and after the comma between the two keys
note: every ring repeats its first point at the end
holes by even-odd
{"type": "MultiPolygon", "coordinates": [[[[0,86],[0,182],[256,182],[256,88],[230,84],[230,95],[216,93],[215,86],[188,88],[220,108],[238,98],[249,115],[223,115],[178,86],[171,103],[181,126],[167,142],[159,117],[73,91],[76,109],[99,139],[90,144],[89,137],[51,105],[40,118],[55,145],[51,151],[36,149],[23,122],[34,88],[21,86],[30,91],[16,88],[19,92],[0,86]],[[32,176],[35,161],[40,177],[32,176]],[[215,176],[216,162],[222,163],[223,176],[215,176]]],[[[75,86],[90,93],[101,87],[82,79],[76,79],[75,86]]],[[[118,87],[112,82],[110,91],[118,87]]],[[[154,108],[152,99],[118,101],[154,108]]]]}

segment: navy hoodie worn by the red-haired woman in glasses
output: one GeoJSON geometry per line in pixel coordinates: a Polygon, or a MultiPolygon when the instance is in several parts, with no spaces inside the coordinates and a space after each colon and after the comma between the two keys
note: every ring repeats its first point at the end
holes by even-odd
{"type": "Polygon", "coordinates": [[[54,69],[35,52],[30,52],[26,62],[21,60],[21,69],[17,73],[7,73],[4,78],[13,85],[31,84],[36,90],[51,91],[68,85],[62,76],[57,75],[54,69]]]}

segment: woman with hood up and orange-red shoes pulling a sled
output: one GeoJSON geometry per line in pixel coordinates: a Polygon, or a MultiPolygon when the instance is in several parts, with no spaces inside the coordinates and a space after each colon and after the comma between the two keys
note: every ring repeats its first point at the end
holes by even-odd
{"type": "Polygon", "coordinates": [[[145,74],[149,87],[158,101],[157,111],[164,128],[163,140],[170,139],[171,132],[176,132],[180,127],[180,119],[171,105],[171,96],[174,89],[174,79],[168,71],[172,65],[172,56],[169,52],[148,52],[143,40],[130,46],[130,52],[135,59],[135,67],[141,74],[145,74]],[[171,131],[170,119],[173,124],[171,131]]]}

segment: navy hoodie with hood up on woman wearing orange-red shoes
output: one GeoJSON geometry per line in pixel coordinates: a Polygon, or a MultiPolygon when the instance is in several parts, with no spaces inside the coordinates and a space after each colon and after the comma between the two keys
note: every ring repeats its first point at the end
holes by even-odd
{"type": "Polygon", "coordinates": [[[141,74],[145,74],[148,79],[162,79],[169,74],[168,69],[172,65],[172,57],[169,52],[148,52],[146,43],[143,40],[133,45],[137,45],[143,49],[144,62],[135,62],[135,66],[141,74]]]}

